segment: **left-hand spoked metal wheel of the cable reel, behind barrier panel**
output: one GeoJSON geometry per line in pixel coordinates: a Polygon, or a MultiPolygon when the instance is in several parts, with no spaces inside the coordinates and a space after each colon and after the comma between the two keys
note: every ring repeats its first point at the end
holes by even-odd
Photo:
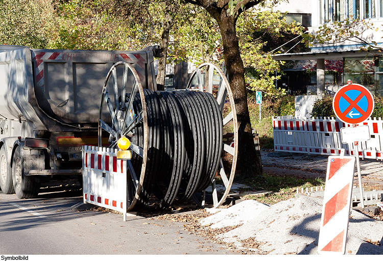
{"type": "Polygon", "coordinates": [[[130,174],[128,179],[131,180],[128,184],[129,193],[132,195],[128,210],[132,210],[139,199],[148,156],[145,96],[137,72],[126,62],[117,62],[111,67],[103,89],[99,113],[99,147],[106,146],[102,141],[108,137],[107,147],[117,148],[118,139],[130,135],[133,154],[132,159],[127,160],[127,168],[130,174]],[[133,83],[128,82],[128,75],[134,77],[133,83]],[[109,94],[108,89],[113,89],[113,93],[109,94]],[[114,100],[111,100],[111,96],[114,100]]]}

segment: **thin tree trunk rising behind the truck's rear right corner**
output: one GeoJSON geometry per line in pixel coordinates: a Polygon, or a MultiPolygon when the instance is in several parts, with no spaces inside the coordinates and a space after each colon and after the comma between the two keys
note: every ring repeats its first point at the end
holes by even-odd
{"type": "Polygon", "coordinates": [[[169,32],[170,28],[172,27],[172,24],[173,20],[171,16],[169,14],[166,14],[160,44],[163,57],[158,59],[158,74],[156,77],[158,91],[163,91],[165,88],[164,85],[166,76],[167,45],[169,44],[169,32]]]}

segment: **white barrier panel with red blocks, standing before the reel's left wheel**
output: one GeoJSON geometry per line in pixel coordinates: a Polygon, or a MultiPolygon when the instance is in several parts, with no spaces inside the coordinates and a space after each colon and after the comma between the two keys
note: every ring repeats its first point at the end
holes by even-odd
{"type": "Polygon", "coordinates": [[[83,147],[84,203],[123,212],[129,203],[126,160],[117,159],[117,150],[94,146],[83,147]]]}

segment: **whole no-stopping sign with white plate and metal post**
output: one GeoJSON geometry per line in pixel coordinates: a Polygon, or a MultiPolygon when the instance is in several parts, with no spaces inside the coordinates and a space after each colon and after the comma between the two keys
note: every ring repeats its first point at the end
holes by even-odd
{"type": "MultiPolygon", "coordinates": [[[[363,187],[361,178],[361,166],[359,162],[358,141],[367,141],[370,139],[368,125],[356,126],[371,117],[374,111],[374,98],[369,90],[364,86],[352,84],[342,87],[335,94],[332,100],[332,108],[338,119],[344,123],[352,124],[352,127],[341,128],[342,143],[354,143],[356,157],[356,167],[358,173],[359,189],[361,193],[361,206],[364,208],[363,187]],[[366,128],[367,127],[367,128],[366,128]]],[[[351,154],[351,146],[350,154],[351,154]]]]}

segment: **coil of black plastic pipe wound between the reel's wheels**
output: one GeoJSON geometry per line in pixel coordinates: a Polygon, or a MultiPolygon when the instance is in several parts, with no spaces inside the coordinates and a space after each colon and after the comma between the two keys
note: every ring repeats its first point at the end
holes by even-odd
{"type": "MultiPolygon", "coordinates": [[[[218,170],[222,152],[222,114],[209,93],[144,90],[148,116],[148,159],[136,207],[160,209],[185,202],[205,190],[218,170]]],[[[130,96],[127,95],[127,98],[130,96]]],[[[134,113],[142,111],[139,95],[134,113]]],[[[132,142],[143,145],[143,129],[135,128],[132,142]]],[[[142,159],[132,155],[136,174],[142,159]]],[[[129,174],[129,173],[128,173],[129,174]]],[[[134,190],[129,188],[133,197],[134,190]]]]}

